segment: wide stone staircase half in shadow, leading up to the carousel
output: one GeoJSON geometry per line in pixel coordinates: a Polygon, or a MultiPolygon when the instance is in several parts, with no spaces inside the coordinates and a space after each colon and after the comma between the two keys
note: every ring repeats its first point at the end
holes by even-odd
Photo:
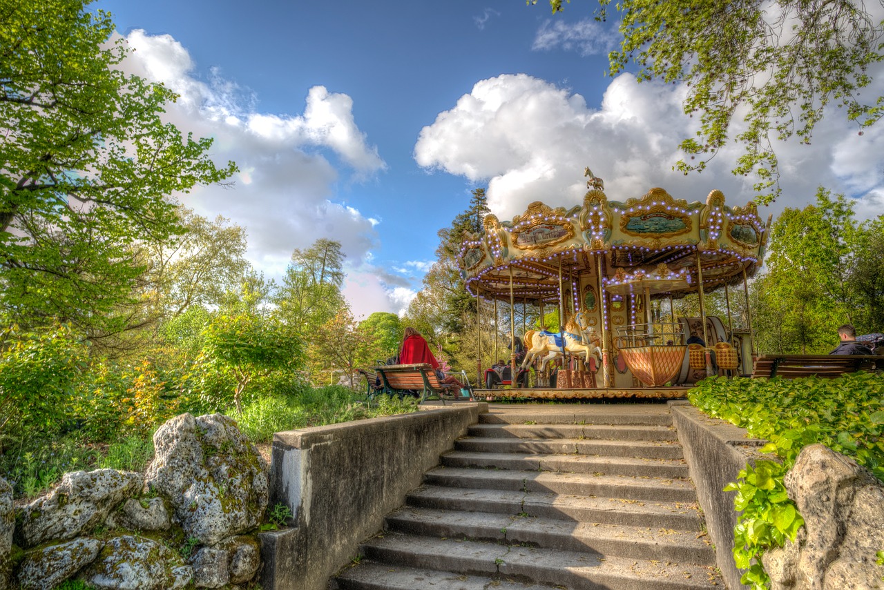
{"type": "Polygon", "coordinates": [[[493,406],[331,587],[723,588],[666,405],[493,406]]]}

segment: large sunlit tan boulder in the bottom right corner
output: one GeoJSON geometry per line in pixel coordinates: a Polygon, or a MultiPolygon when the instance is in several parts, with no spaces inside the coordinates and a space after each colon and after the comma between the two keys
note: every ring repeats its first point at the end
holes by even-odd
{"type": "Polygon", "coordinates": [[[763,557],[771,590],[842,590],[884,586],[884,486],[851,459],[812,444],[786,474],[789,497],[804,517],[794,543],[763,557]]]}

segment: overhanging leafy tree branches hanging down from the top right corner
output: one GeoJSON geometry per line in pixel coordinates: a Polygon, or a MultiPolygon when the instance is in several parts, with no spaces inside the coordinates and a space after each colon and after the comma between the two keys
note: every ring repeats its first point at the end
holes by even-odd
{"type": "MultiPolygon", "coordinates": [[[[604,20],[610,0],[598,4],[604,20]]],[[[562,10],[561,0],[550,5],[562,10]]],[[[676,164],[685,174],[704,170],[733,136],[745,147],[734,174],[754,173],[756,200],[770,202],[781,191],[774,141],[810,143],[816,124],[835,112],[860,130],[884,114],[884,97],[860,96],[884,59],[884,21],[862,3],[621,0],[616,9],[623,41],[610,74],[635,61],[639,80],[684,83],[684,111],[699,115],[697,137],[681,144],[690,160],[676,164]]]]}

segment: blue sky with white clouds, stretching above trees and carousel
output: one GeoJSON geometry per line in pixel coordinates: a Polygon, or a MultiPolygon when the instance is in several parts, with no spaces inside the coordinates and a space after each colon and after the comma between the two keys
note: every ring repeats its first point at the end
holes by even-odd
{"type": "MultiPolygon", "coordinates": [[[[126,69],[181,95],[169,120],[240,165],[232,188],[182,202],[244,226],[250,261],[271,278],[293,248],[338,239],[357,316],[408,305],[437,231],[478,186],[503,219],[532,200],[579,203],[585,166],[613,200],[654,186],[687,200],[717,188],[730,205],[751,196],[728,172],[735,150],[699,176],[671,171],[693,129],[683,88],[606,77],[615,23],[593,21],[588,1],[556,16],[544,0],[93,6],[135,49],[126,69]]],[[[880,215],[882,147],[880,130],[821,125],[812,147],[781,147],[784,193],[761,213],[804,206],[822,184],[880,215]]]]}

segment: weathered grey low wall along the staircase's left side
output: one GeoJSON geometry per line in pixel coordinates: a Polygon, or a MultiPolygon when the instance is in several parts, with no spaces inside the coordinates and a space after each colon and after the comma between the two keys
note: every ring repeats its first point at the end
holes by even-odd
{"type": "Polygon", "coordinates": [[[487,411],[456,405],[277,433],[271,506],[294,516],[292,528],[261,535],[264,590],[323,590],[487,411]]]}

